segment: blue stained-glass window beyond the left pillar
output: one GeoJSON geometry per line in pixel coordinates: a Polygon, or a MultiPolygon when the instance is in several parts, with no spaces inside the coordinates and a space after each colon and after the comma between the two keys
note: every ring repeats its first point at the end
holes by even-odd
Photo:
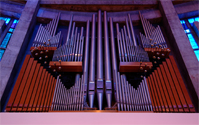
{"type": "Polygon", "coordinates": [[[14,29],[17,26],[18,20],[15,19],[15,20],[11,21],[11,18],[7,18],[7,17],[0,17],[0,20],[4,20],[5,21],[6,28],[9,26],[8,30],[3,31],[3,32],[5,32],[4,33],[5,35],[3,36],[4,38],[2,39],[2,41],[0,41],[0,61],[1,61],[1,59],[3,57],[3,54],[4,54],[5,50],[6,50],[6,47],[7,47],[8,43],[9,43],[9,41],[10,41],[10,38],[12,37],[14,29]],[[9,24],[9,22],[10,22],[10,24],[9,24]]]}

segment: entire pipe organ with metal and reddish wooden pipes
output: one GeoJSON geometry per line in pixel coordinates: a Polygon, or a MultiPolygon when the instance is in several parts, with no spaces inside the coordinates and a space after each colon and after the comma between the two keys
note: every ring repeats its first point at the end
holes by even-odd
{"type": "Polygon", "coordinates": [[[144,34],[137,39],[130,14],[121,26],[99,10],[81,28],[73,16],[66,41],[61,32],[55,35],[60,13],[39,26],[7,112],[195,112],[160,26],[154,27],[139,12],[144,34]],[[72,86],[66,73],[75,73],[72,86]]]}

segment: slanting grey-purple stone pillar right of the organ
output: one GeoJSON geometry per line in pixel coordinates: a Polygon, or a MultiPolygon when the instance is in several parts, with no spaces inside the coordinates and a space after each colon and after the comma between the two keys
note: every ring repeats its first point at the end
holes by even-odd
{"type": "MultiPolygon", "coordinates": [[[[183,70],[183,76],[188,84],[193,84],[193,86],[190,87],[190,91],[191,93],[192,90],[195,91],[198,98],[199,62],[180,23],[172,1],[160,0],[159,8],[162,13],[163,23],[169,36],[170,44],[173,46],[173,52],[175,53],[176,59],[180,64],[180,68],[183,70]]],[[[196,99],[195,97],[193,98],[193,100],[196,99]]]]}

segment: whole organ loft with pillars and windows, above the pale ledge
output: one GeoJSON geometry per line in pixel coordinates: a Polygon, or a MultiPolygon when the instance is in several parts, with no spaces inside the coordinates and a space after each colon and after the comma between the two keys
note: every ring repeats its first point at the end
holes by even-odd
{"type": "Polygon", "coordinates": [[[1,1],[1,112],[198,112],[198,2],[1,1]]]}

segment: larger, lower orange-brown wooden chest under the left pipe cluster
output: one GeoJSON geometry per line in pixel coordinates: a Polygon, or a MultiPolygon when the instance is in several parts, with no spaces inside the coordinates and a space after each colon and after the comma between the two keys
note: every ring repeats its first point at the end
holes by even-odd
{"type": "Polygon", "coordinates": [[[57,72],[82,72],[82,62],[51,61],[49,66],[51,70],[56,69],[57,72]],[[59,67],[61,67],[61,70],[59,70],[59,67]]]}

